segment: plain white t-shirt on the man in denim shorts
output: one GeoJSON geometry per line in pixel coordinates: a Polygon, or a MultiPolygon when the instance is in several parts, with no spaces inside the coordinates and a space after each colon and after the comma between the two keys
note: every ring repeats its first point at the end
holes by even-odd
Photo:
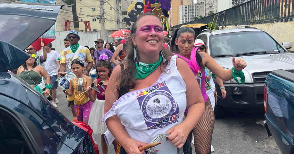
{"type": "Polygon", "coordinates": [[[47,60],[44,62],[44,67],[49,76],[58,75],[58,66],[57,66],[58,52],[51,50],[50,53],[47,53],[47,60]]]}

